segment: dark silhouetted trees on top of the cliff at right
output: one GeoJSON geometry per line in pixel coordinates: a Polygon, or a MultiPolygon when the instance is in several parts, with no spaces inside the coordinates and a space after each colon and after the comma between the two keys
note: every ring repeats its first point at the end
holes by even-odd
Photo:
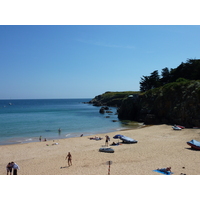
{"type": "Polygon", "coordinates": [[[158,70],[153,71],[150,76],[142,76],[140,91],[145,92],[163,86],[167,83],[183,80],[200,80],[200,59],[188,59],[177,68],[163,68],[161,75],[158,70]]]}

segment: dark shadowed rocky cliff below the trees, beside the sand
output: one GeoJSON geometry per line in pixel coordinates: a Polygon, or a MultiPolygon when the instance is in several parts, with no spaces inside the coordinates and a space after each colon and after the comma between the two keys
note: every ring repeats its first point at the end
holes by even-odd
{"type": "Polygon", "coordinates": [[[125,98],[119,119],[200,127],[200,81],[182,80],[125,98]]]}

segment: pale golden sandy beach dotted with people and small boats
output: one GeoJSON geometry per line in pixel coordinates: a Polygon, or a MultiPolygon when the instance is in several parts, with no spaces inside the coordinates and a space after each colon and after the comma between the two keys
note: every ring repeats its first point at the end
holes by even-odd
{"type": "Polygon", "coordinates": [[[19,165],[19,175],[106,175],[107,161],[112,161],[111,175],[162,175],[153,170],[169,166],[173,175],[200,174],[200,151],[186,144],[192,139],[200,140],[200,129],[174,131],[169,125],[154,125],[96,136],[103,139],[95,141],[83,136],[2,145],[0,174],[6,175],[6,165],[11,161],[19,165]],[[113,139],[116,134],[131,137],[138,143],[113,146],[114,153],[99,152],[105,146],[105,135],[109,135],[111,144],[118,142],[113,139]],[[72,154],[72,166],[65,160],[68,152],[72,154]]]}

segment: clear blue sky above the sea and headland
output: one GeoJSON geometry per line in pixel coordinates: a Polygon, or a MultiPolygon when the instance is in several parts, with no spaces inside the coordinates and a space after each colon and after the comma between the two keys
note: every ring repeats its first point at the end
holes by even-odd
{"type": "Polygon", "coordinates": [[[138,91],[143,75],[199,59],[200,26],[0,26],[0,99],[138,91]]]}

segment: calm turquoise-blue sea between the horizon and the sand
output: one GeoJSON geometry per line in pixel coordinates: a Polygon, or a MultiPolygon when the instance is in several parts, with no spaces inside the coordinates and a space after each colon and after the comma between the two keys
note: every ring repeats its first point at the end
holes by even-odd
{"type": "Polygon", "coordinates": [[[40,136],[54,140],[127,128],[118,120],[117,108],[100,114],[100,107],[84,103],[90,100],[0,100],[0,145],[37,142],[40,136]]]}

